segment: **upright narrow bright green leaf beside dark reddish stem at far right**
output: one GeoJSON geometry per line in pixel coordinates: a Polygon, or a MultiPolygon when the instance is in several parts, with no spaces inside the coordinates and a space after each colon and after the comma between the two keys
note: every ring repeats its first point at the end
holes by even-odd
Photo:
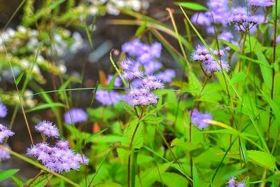
{"type": "MultiPolygon", "coordinates": [[[[266,59],[265,55],[262,54],[262,52],[256,51],[255,55],[258,56],[258,60],[267,64],[267,66],[269,66],[269,63],[267,62],[267,59],[266,59]]],[[[267,88],[271,89],[272,88],[272,69],[268,68],[268,67],[260,66],[260,71],[262,73],[263,81],[265,81],[265,85],[267,86],[267,88]]]]}

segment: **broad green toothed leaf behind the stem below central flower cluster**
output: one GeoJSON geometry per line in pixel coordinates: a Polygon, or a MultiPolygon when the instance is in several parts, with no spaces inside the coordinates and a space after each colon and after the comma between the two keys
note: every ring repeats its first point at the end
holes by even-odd
{"type": "Polygon", "coordinates": [[[130,146],[133,134],[132,147],[141,148],[144,144],[143,124],[139,123],[138,119],[132,120],[123,132],[123,146],[130,146]]]}

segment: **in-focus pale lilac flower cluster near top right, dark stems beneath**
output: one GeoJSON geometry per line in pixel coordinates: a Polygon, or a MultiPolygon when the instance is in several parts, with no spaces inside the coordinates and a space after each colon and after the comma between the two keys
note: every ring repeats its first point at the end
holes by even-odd
{"type": "Polygon", "coordinates": [[[259,21],[258,16],[251,15],[244,7],[232,8],[228,16],[228,22],[236,25],[239,31],[243,32],[257,25],[259,21]]]}

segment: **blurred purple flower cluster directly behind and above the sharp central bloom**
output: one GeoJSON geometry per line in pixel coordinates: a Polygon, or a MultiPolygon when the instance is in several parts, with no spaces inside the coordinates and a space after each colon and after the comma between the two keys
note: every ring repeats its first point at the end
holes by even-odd
{"type": "MultiPolygon", "coordinates": [[[[140,66],[143,66],[145,74],[155,74],[157,76],[157,74],[163,73],[160,71],[160,69],[162,69],[162,63],[157,60],[162,51],[160,43],[155,42],[150,46],[142,43],[139,39],[134,39],[133,41],[124,43],[122,50],[131,57],[135,57],[136,62],[134,62],[134,67],[139,69],[140,66]]],[[[172,81],[172,78],[175,77],[175,71],[173,69],[166,69],[165,71],[168,72],[165,74],[165,76],[168,77],[163,78],[162,81],[169,83],[172,81]]],[[[162,76],[159,76],[158,78],[161,79],[162,76]]]]}

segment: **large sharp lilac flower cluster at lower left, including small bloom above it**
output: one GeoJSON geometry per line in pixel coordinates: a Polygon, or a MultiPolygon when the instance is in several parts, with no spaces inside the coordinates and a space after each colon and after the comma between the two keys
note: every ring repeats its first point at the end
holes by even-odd
{"type": "MultiPolygon", "coordinates": [[[[46,137],[49,137],[50,130],[57,130],[52,123],[45,123],[45,120],[36,125],[36,130],[41,132],[46,137]],[[42,125],[44,124],[44,125],[42,125]],[[40,128],[40,130],[38,130],[40,128]]],[[[58,130],[57,130],[58,133],[58,130]]],[[[53,136],[52,136],[53,137],[53,136]]],[[[69,172],[70,169],[78,170],[81,164],[87,165],[89,160],[85,155],[75,153],[66,140],[57,140],[54,146],[51,146],[46,141],[35,144],[27,148],[27,155],[34,156],[45,167],[53,172],[69,172]]]]}

